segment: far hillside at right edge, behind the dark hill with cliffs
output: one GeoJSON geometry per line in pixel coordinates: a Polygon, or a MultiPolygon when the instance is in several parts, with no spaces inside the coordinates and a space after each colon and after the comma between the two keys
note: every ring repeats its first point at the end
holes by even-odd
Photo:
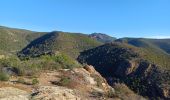
{"type": "Polygon", "coordinates": [[[135,46],[141,49],[145,59],[159,66],[170,68],[170,39],[122,38],[115,41],[135,46]]]}

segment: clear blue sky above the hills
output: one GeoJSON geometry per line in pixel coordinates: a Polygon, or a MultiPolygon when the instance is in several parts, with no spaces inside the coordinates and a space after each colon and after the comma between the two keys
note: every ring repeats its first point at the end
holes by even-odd
{"type": "Polygon", "coordinates": [[[0,25],[170,38],[170,0],[0,0],[0,25]]]}

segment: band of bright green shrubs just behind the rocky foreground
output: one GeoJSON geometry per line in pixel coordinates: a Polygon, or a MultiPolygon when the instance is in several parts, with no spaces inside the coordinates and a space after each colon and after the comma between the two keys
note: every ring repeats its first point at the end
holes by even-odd
{"type": "Polygon", "coordinates": [[[20,60],[17,57],[0,59],[0,68],[15,68],[17,75],[33,76],[42,70],[72,69],[81,65],[69,56],[58,53],[57,55],[44,55],[39,58],[20,60]]]}

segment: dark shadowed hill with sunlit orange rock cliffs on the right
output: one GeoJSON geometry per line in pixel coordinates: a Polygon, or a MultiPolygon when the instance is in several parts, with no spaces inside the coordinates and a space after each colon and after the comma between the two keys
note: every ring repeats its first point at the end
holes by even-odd
{"type": "Polygon", "coordinates": [[[143,58],[142,50],[125,43],[107,43],[82,52],[78,61],[93,65],[111,86],[125,83],[150,99],[169,99],[170,68],[164,69],[143,58]]]}

